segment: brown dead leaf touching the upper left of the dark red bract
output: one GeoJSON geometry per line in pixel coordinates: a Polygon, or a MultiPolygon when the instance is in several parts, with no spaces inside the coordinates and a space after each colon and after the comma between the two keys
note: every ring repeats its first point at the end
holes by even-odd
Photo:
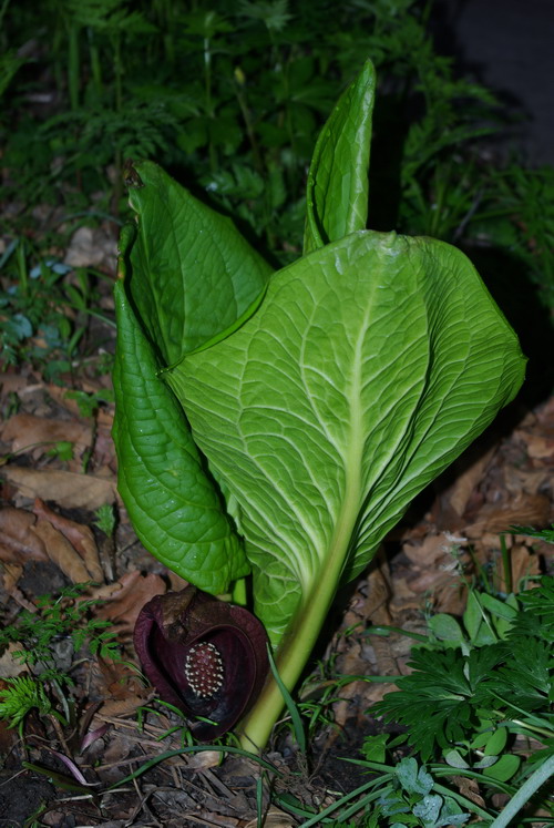
{"type": "Polygon", "coordinates": [[[101,586],[91,592],[93,599],[104,599],[96,615],[117,625],[121,635],[132,634],[138,613],[144,604],[166,592],[164,580],[160,575],[141,572],[127,572],[115,584],[101,586]]]}

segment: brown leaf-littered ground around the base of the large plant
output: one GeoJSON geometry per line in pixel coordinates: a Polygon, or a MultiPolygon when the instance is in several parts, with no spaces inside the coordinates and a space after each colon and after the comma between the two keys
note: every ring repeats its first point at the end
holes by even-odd
{"type": "MultiPolygon", "coordinates": [[[[109,277],[99,283],[99,307],[110,317],[110,227],[81,228],[57,254],[71,268],[63,276],[70,285],[78,267],[109,277]]],[[[62,313],[75,320],[70,307],[62,313]]],[[[74,719],[64,724],[34,709],[22,728],[0,723],[0,826],[253,828],[260,770],[252,760],[227,756],[222,763],[216,750],[160,760],[183,747],[183,728],[137,675],[132,631],[146,601],[184,582],[144,550],[117,495],[111,376],[103,369],[113,348],[113,327],[94,319],[69,371],[52,379],[24,364],[4,366],[1,377],[2,625],[17,625],[23,611],[40,614],[42,595],[55,599],[64,587],[93,581],[85,597],[101,601],[90,612],[111,622],[123,658],[75,654],[64,646],[66,634],[55,642],[55,666],[73,682],[57,699],[58,713],[68,718],[74,709],[74,719]],[[113,532],[96,525],[106,505],[116,514],[113,532]],[[125,780],[153,759],[148,770],[125,780]]],[[[466,584],[482,572],[500,592],[510,591],[509,579],[517,590],[530,575],[554,574],[552,545],[507,531],[552,523],[553,471],[554,398],[532,409],[516,400],[418,498],[370,570],[338,595],[300,696],[326,699],[310,730],[310,756],[304,761],[298,755],[286,723],[276,729],[265,754],[275,773],[263,776],[264,825],[300,824],[276,794],[320,808],[363,778],[341,759],[358,757],[363,738],[382,727],[371,705],[393,684],[358,679],[337,684],[331,694],[328,688],[337,676],[406,674],[410,654],[408,638],[370,636],[370,625],[424,632],[431,607],[460,615],[466,584]]],[[[18,648],[13,643],[0,654],[0,687],[25,669],[13,655],[18,648]]]]}

